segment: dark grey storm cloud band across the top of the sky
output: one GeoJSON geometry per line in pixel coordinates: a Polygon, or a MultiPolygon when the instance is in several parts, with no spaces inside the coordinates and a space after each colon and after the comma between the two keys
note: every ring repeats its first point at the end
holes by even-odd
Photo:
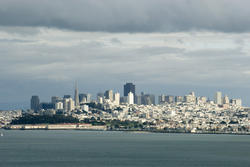
{"type": "Polygon", "coordinates": [[[78,31],[250,31],[248,0],[1,0],[0,25],[78,31]]]}

